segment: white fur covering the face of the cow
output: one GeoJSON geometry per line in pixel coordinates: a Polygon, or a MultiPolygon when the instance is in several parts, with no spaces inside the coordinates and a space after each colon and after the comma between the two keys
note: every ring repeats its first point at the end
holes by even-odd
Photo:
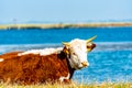
{"type": "Polygon", "coordinates": [[[69,64],[73,68],[80,69],[82,68],[84,62],[87,62],[87,42],[84,40],[73,40],[69,42],[70,50],[70,59],[69,64]]]}

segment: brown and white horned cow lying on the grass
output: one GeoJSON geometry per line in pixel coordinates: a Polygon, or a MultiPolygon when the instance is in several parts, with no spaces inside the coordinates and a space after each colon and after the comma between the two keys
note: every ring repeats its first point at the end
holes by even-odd
{"type": "Polygon", "coordinates": [[[2,54],[0,80],[20,85],[70,82],[75,70],[89,66],[87,53],[96,47],[95,38],[75,38],[57,48],[2,54]]]}

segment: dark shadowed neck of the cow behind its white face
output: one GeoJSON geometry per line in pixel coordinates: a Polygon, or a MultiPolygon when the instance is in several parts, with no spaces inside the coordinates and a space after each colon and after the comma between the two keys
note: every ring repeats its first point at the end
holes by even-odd
{"type": "Polygon", "coordinates": [[[69,79],[72,79],[75,68],[72,68],[72,66],[69,65],[68,56],[63,51],[58,54],[58,56],[61,59],[65,59],[64,64],[66,64],[68,66],[68,72],[70,74],[69,79]]]}

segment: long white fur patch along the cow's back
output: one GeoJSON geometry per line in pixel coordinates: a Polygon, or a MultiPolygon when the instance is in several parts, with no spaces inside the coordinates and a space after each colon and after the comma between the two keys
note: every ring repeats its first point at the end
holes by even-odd
{"type": "Polygon", "coordinates": [[[19,53],[18,56],[22,56],[22,55],[26,55],[26,54],[40,54],[42,56],[45,56],[45,55],[50,55],[50,54],[53,54],[53,53],[58,53],[62,50],[63,50],[63,47],[44,48],[44,50],[31,50],[31,51],[26,51],[26,52],[23,52],[23,53],[19,53]]]}

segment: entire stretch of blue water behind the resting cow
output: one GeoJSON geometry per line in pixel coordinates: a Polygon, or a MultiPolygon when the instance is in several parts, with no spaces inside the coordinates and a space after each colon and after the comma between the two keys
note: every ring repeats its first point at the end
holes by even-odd
{"type": "Polygon", "coordinates": [[[0,54],[11,51],[58,47],[73,38],[94,35],[97,47],[88,54],[90,66],[77,70],[73,80],[132,81],[132,28],[0,30],[0,54]]]}

